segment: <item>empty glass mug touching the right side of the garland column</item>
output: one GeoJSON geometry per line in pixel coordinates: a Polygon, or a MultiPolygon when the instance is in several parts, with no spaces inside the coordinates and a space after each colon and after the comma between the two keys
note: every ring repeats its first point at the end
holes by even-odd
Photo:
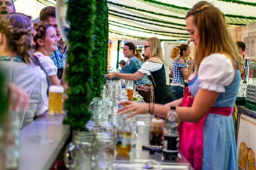
{"type": "Polygon", "coordinates": [[[93,114],[94,119],[102,118],[103,106],[101,97],[93,97],[93,101],[89,105],[89,111],[93,114]]]}

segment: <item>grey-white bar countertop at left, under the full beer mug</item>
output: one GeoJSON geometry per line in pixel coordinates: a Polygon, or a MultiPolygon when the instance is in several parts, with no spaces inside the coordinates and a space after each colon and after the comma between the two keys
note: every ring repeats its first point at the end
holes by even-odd
{"type": "Polygon", "coordinates": [[[21,130],[19,170],[49,170],[70,135],[63,117],[45,114],[21,130]]]}

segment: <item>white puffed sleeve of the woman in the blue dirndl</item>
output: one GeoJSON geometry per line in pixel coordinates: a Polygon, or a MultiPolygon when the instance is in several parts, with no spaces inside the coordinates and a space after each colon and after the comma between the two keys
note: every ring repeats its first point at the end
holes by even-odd
{"type": "Polygon", "coordinates": [[[209,91],[225,92],[235,77],[235,69],[231,60],[223,54],[212,54],[202,60],[198,69],[200,88],[209,91]]]}

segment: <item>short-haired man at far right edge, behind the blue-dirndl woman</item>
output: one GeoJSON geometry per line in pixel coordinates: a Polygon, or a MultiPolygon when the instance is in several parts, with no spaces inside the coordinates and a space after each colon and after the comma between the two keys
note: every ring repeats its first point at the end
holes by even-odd
{"type": "MultiPolygon", "coordinates": [[[[244,58],[249,57],[250,58],[251,62],[250,62],[250,69],[249,69],[249,78],[253,78],[253,73],[254,73],[253,69],[256,69],[256,63],[253,62],[253,59],[245,52],[246,46],[245,46],[244,42],[237,41],[236,44],[239,48],[239,54],[241,55],[241,57],[244,57],[244,58]]],[[[244,73],[242,73],[241,79],[244,79],[244,77],[245,77],[245,75],[244,75],[244,73]]]]}

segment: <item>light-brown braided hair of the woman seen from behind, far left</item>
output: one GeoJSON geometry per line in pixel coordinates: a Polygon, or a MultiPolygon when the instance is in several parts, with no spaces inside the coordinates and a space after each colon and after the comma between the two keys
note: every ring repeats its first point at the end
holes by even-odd
{"type": "Polygon", "coordinates": [[[0,19],[0,32],[6,36],[8,47],[27,64],[31,63],[32,41],[31,17],[21,13],[11,13],[0,19]]]}

